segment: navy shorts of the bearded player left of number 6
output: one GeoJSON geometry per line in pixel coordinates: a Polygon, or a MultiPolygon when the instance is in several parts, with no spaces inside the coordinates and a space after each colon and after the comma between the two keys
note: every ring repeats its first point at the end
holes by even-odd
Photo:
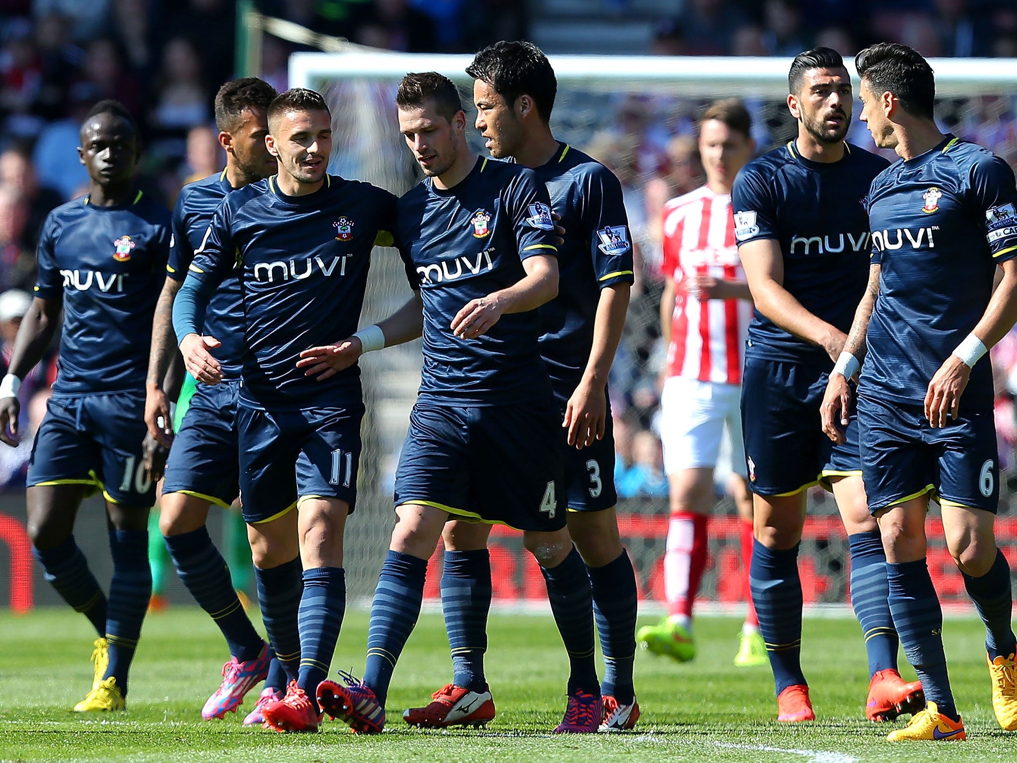
{"type": "Polygon", "coordinates": [[[861,474],[854,416],[847,443],[823,433],[820,405],[828,370],[819,365],[746,358],[741,378],[741,430],[749,486],[760,495],[789,495],[829,477],[861,474]]]}

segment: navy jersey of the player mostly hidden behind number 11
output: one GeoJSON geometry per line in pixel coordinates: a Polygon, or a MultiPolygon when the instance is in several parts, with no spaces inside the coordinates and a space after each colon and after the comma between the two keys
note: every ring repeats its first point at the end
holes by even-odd
{"type": "MultiPolygon", "coordinates": [[[[173,208],[173,239],[166,274],[174,281],[187,278],[194,252],[201,248],[212,216],[226,194],[233,190],[226,170],[203,180],[188,183],[177,196],[173,208]]],[[[236,272],[223,279],[204,312],[203,332],[222,342],[212,354],[223,366],[223,377],[240,377],[240,358],[244,350],[244,306],[240,298],[240,279],[236,272]]]]}

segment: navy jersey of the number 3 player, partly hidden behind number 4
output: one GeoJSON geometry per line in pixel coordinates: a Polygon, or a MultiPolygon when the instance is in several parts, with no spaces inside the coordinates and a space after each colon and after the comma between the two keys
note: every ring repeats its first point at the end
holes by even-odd
{"type": "Polygon", "coordinates": [[[555,395],[566,400],[579,385],[593,347],[600,290],[633,283],[633,247],[621,183],[595,159],[565,143],[533,170],[561,216],[558,296],[542,305],[540,354],[555,395]]]}

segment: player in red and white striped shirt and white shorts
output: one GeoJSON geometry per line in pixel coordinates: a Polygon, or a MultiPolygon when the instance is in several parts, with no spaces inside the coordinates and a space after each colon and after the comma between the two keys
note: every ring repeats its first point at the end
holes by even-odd
{"type": "MultiPolygon", "coordinates": [[[[717,101],[707,108],[699,135],[706,185],[664,206],[667,281],[660,298],[660,329],[667,366],[660,434],[671,502],[664,556],[668,614],[658,625],[641,628],[637,639],[650,651],[679,662],[696,656],[693,602],[706,570],[707,522],[715,503],[713,472],[725,429],[746,581],[752,562],[753,498],[738,406],[752,295],[731,216],[731,184],[756,151],[751,129],[752,117],[739,101],[717,101]]],[[[766,663],[766,645],[750,597],[734,664],[766,663]]]]}

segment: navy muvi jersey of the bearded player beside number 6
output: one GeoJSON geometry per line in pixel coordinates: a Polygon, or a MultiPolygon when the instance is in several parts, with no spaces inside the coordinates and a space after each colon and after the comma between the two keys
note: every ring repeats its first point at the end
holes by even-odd
{"type": "MultiPolygon", "coordinates": [[[[734,179],[738,244],[772,239],[784,256],[784,288],[801,306],[845,334],[869,282],[869,218],[862,199],[889,164],[845,143],[844,158],[804,159],[794,141],[750,162],[734,179]]],[[[826,351],[756,309],[745,357],[832,364],[826,351]]]]}

